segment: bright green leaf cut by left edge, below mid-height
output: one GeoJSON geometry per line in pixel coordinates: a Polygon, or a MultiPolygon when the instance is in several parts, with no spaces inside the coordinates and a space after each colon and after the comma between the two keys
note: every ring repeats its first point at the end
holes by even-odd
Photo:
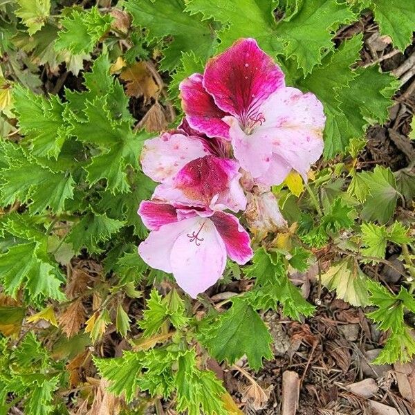
{"type": "Polygon", "coordinates": [[[51,265],[34,242],[12,246],[0,255],[0,281],[12,297],[24,286],[25,297],[32,304],[39,304],[45,297],[65,299],[59,289],[62,275],[57,265],[51,265]]]}

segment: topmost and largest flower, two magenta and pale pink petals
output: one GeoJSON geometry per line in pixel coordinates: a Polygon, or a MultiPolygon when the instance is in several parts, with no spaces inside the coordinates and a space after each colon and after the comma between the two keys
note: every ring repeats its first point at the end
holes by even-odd
{"type": "Polygon", "coordinates": [[[312,93],[285,86],[255,39],[241,39],[180,85],[192,129],[232,142],[257,183],[277,185],[295,169],[306,180],[323,150],[325,116],[312,93]]]}

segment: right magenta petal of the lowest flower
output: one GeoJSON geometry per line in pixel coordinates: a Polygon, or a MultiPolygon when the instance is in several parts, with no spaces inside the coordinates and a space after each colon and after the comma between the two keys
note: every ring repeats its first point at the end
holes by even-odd
{"type": "Polygon", "coordinates": [[[215,212],[210,218],[225,243],[226,252],[239,265],[246,264],[253,255],[248,232],[232,214],[215,212]]]}

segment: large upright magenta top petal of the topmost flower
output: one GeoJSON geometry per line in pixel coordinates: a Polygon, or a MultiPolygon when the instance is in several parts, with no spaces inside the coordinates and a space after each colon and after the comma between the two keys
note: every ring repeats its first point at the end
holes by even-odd
{"type": "Polygon", "coordinates": [[[264,100],[284,86],[284,73],[255,39],[240,39],[210,59],[203,86],[220,109],[245,124],[264,100]]]}

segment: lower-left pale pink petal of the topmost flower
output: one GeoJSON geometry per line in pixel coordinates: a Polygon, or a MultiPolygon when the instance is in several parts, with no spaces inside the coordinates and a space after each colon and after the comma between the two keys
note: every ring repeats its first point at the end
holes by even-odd
{"type": "Polygon", "coordinates": [[[224,120],[230,125],[234,156],[241,167],[254,178],[263,175],[270,167],[273,137],[264,131],[248,135],[241,129],[236,118],[225,117],[224,120]]]}

